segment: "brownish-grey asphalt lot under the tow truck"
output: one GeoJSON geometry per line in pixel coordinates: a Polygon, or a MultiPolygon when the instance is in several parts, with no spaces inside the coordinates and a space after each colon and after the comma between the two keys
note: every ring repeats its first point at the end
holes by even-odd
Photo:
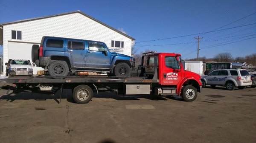
{"type": "Polygon", "coordinates": [[[193,102],[154,95],[0,90],[0,143],[256,143],[256,88],[203,88],[193,102]]]}

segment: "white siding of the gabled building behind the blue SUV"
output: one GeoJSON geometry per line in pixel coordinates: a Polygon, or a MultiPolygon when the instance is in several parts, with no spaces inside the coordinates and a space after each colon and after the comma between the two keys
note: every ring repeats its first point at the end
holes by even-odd
{"type": "MultiPolygon", "coordinates": [[[[3,62],[7,62],[8,42],[40,43],[43,36],[67,37],[105,42],[111,48],[111,40],[123,41],[123,54],[131,56],[131,39],[96,22],[83,14],[73,13],[40,20],[3,25],[3,62]],[[12,39],[12,30],[22,31],[22,39],[12,39]]],[[[19,47],[17,47],[19,48],[19,47]]],[[[31,47],[29,47],[31,49],[31,47]]],[[[23,54],[23,53],[20,53],[23,54]]],[[[31,51],[26,54],[31,59],[31,51]]],[[[20,59],[17,55],[16,59],[20,59]]]]}

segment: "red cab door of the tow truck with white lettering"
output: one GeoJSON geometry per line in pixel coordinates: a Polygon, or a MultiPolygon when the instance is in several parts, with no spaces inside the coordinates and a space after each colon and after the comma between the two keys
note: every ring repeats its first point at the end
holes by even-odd
{"type": "Polygon", "coordinates": [[[163,76],[162,84],[163,85],[177,85],[182,80],[182,70],[180,70],[180,63],[177,60],[176,56],[165,56],[164,62],[162,62],[163,76]]]}

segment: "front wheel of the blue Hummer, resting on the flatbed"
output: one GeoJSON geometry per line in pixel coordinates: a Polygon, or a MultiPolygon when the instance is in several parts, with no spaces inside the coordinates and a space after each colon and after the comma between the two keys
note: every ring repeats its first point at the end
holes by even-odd
{"type": "Polygon", "coordinates": [[[131,67],[124,62],[120,62],[116,64],[116,67],[114,69],[114,74],[115,76],[124,76],[124,77],[130,76],[131,67]]]}

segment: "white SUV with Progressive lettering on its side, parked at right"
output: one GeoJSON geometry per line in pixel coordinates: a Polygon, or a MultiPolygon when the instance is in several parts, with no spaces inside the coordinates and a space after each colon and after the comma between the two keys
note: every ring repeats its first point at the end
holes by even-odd
{"type": "Polygon", "coordinates": [[[225,86],[227,90],[234,90],[236,87],[244,89],[252,84],[250,73],[244,69],[223,69],[213,70],[208,76],[202,76],[202,87],[210,85],[225,86]]]}

